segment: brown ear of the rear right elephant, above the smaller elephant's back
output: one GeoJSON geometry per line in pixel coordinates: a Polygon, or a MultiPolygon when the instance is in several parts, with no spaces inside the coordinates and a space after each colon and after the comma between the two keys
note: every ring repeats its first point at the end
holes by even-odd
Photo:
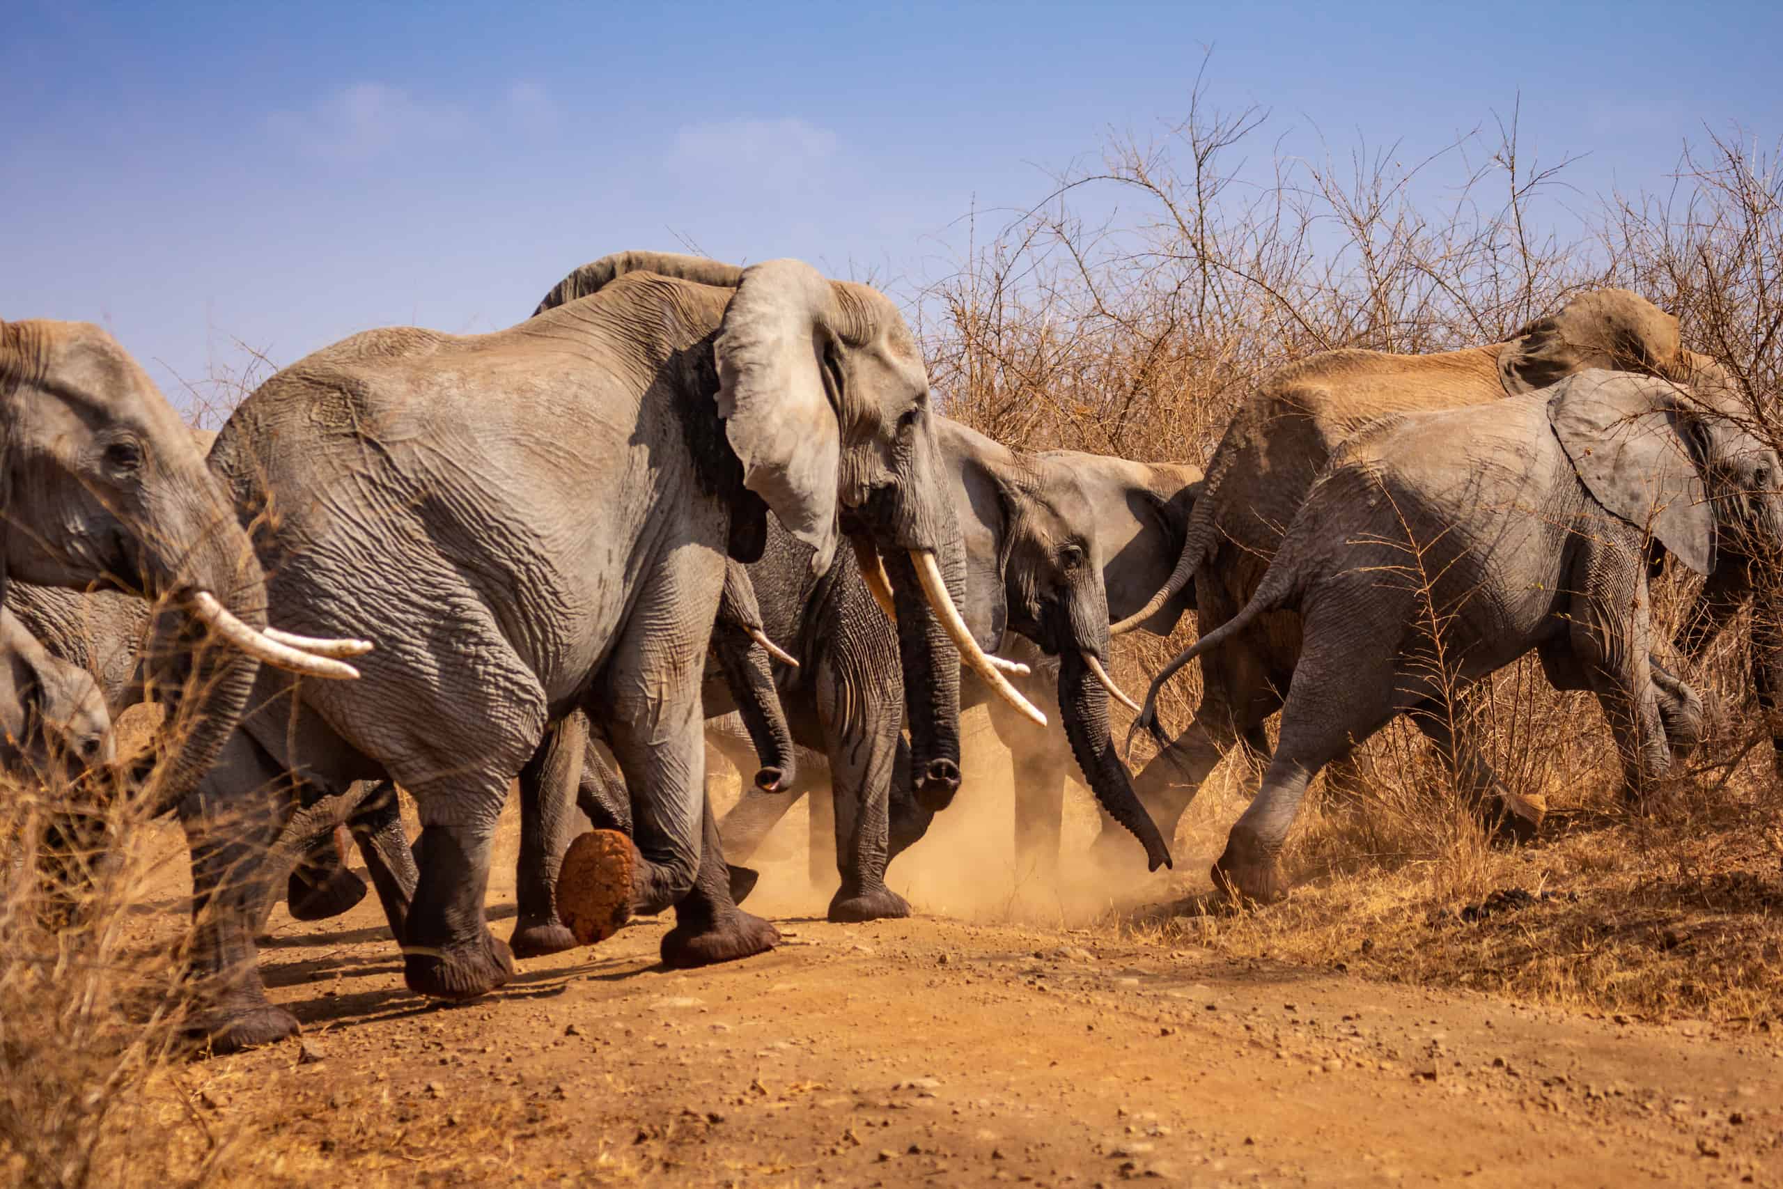
{"type": "Polygon", "coordinates": [[[1598,289],[1512,335],[1498,351],[1498,378],[1521,396],[1587,367],[1671,374],[1681,353],[1676,317],[1637,292],[1598,289]]]}

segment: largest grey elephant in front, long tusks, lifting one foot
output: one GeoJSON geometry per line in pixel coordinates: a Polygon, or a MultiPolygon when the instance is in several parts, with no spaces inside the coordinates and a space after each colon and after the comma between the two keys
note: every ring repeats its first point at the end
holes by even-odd
{"type": "MultiPolygon", "coordinates": [[[[508,330],[355,335],[250,394],[210,465],[269,604],[380,636],[351,685],[259,674],[255,713],[180,806],[214,1050],[298,1029],[253,945],[292,786],[317,816],[364,783],[414,795],[419,877],[392,931],[421,995],[512,977],[483,913],[496,818],[578,709],[640,790],[640,840],[678,857],[669,891],[692,886],[703,661],[726,558],[760,554],[768,512],[815,572],[842,540],[883,556],[920,786],[959,783],[961,660],[1000,679],[954,610],[963,545],[915,339],[883,294],[797,260],[622,253],[508,330]]],[[[610,854],[599,895],[628,897],[629,850],[610,854]]]]}

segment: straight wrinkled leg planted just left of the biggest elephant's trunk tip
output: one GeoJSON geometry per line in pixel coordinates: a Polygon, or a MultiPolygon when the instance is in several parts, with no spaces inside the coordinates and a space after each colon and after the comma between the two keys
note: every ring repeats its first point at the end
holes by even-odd
{"type": "MultiPolygon", "coordinates": [[[[890,640],[884,642],[890,645],[890,640]]],[[[836,870],[842,886],[829,898],[829,920],[867,922],[909,916],[909,902],[886,888],[892,774],[902,690],[883,676],[897,654],[836,649],[817,667],[817,706],[829,756],[836,870]]],[[[911,793],[915,797],[915,790],[911,793]]],[[[811,799],[811,847],[817,840],[817,804],[811,799]]]]}

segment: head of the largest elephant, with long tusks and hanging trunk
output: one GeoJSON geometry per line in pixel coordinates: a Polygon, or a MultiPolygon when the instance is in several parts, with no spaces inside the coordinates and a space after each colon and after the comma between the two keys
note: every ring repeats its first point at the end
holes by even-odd
{"type": "Polygon", "coordinates": [[[744,485],[811,547],[813,572],[827,570],[847,538],[870,583],[888,574],[890,590],[877,594],[899,622],[913,779],[918,791],[950,797],[959,786],[961,660],[1023,713],[1043,715],[959,615],[965,547],[922,351],[902,314],[875,289],[827,280],[799,260],[736,269],[642,251],[576,269],[538,312],[633,271],[729,291],[711,351],[717,408],[744,485]]]}

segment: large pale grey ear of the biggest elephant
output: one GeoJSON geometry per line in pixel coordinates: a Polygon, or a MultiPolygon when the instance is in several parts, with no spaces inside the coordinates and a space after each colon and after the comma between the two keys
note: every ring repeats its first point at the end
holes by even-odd
{"type": "Polygon", "coordinates": [[[724,310],[713,355],[719,415],[744,463],[744,487],[761,496],[786,531],[815,551],[811,572],[836,556],[842,433],[831,392],[840,351],[834,291],[802,260],[744,269],[724,310]]]}

